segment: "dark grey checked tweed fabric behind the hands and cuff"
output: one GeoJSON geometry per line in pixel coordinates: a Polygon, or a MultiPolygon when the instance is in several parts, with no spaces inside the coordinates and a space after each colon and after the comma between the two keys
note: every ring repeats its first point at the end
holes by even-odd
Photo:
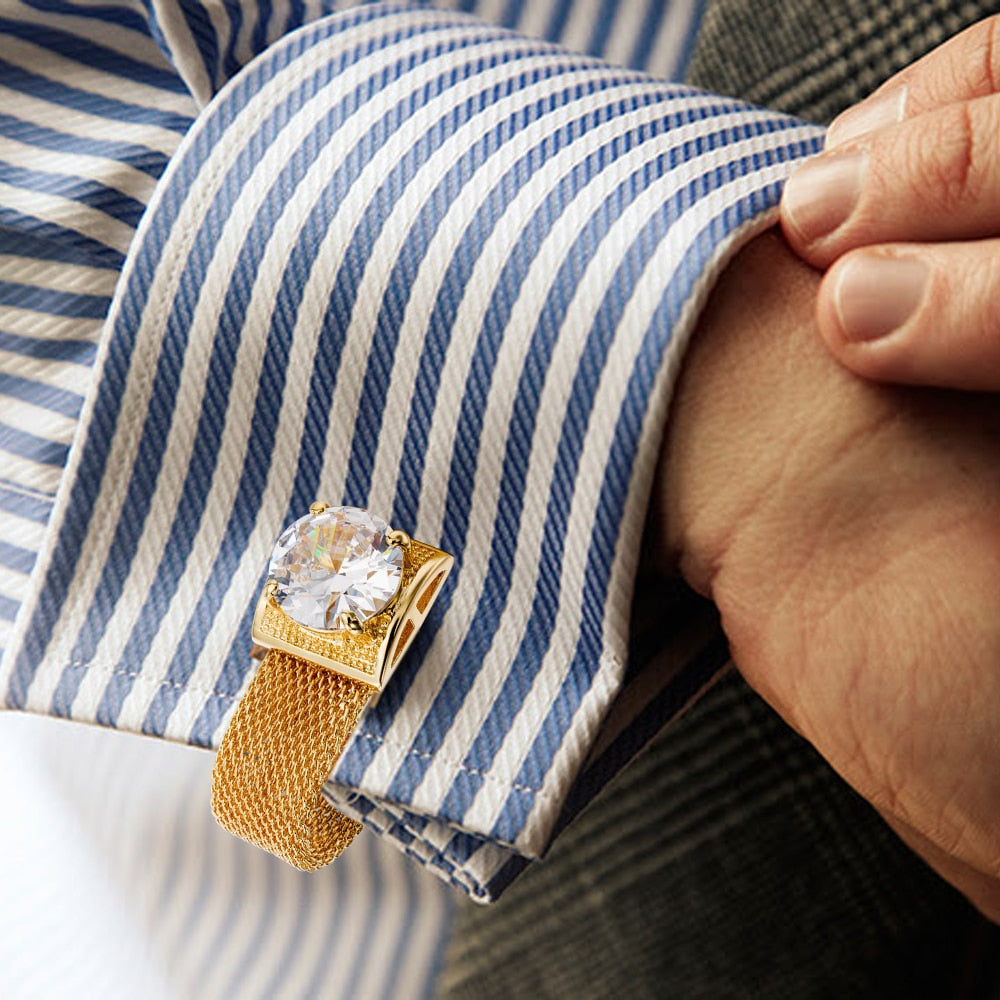
{"type": "MultiPolygon", "coordinates": [[[[997,12],[715,0],[689,78],[823,121],[997,12]]],[[[996,1000],[1000,929],[732,673],[502,900],[459,908],[437,996],[996,1000]]]]}

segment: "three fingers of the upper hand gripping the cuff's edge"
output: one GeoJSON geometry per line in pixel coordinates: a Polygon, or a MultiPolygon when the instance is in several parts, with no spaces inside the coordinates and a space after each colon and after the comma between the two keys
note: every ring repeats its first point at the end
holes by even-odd
{"type": "Polygon", "coordinates": [[[841,115],[789,180],[782,225],[829,267],[817,319],[844,365],[1000,389],[1000,18],[841,115]]]}

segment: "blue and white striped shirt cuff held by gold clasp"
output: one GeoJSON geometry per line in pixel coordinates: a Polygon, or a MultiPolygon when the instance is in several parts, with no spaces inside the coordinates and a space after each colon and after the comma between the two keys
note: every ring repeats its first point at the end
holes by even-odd
{"type": "Polygon", "coordinates": [[[266,49],[132,245],[8,706],[216,745],[275,536],[366,507],[456,566],[327,791],[495,898],[586,799],[681,353],[819,137],[426,8],[266,49]]]}

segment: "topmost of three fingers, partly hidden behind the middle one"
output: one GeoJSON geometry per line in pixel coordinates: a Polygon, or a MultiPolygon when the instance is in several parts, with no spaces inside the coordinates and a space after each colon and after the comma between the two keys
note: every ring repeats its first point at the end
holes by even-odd
{"type": "Polygon", "coordinates": [[[826,148],[875,129],[1000,92],[1000,17],[988,17],[907,66],[835,118],[826,148]]]}

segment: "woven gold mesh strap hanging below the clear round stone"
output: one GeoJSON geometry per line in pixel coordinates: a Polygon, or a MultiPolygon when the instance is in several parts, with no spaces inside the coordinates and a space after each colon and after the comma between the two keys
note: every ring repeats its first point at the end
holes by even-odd
{"type": "Polygon", "coordinates": [[[323,783],[375,688],[272,649],[236,708],[212,774],[212,812],[231,833],[304,871],[361,830],[323,783]]]}

